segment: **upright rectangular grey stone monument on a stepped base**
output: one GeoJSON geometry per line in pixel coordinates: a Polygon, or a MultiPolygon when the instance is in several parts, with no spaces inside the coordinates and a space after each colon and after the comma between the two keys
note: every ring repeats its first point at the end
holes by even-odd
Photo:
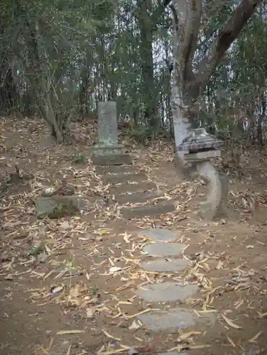
{"type": "Polygon", "coordinates": [[[116,102],[98,103],[98,143],[92,148],[95,165],[129,164],[124,146],[118,143],[116,102]]]}

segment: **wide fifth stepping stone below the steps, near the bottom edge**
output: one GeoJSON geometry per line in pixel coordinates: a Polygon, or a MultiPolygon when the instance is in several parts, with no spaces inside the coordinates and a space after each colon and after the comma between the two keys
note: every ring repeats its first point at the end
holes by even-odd
{"type": "Polygon", "coordinates": [[[177,331],[189,327],[194,327],[195,330],[197,325],[214,326],[216,313],[202,313],[201,315],[202,317],[198,317],[195,312],[178,307],[168,311],[148,312],[138,315],[137,318],[144,327],[154,332],[177,331]]]}

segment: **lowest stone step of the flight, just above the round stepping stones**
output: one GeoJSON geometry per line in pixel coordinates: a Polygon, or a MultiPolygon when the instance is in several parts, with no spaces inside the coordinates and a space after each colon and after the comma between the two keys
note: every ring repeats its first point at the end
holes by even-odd
{"type": "Polygon", "coordinates": [[[175,211],[175,205],[172,202],[159,202],[157,204],[145,204],[136,207],[122,207],[121,214],[124,218],[143,218],[146,216],[156,217],[160,214],[175,211]]]}

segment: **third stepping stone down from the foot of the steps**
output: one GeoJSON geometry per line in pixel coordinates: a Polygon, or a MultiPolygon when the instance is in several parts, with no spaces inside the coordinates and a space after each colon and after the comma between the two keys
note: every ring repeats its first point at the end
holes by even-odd
{"type": "Polygon", "coordinates": [[[189,266],[189,261],[185,259],[168,259],[165,260],[163,258],[150,260],[150,261],[143,261],[141,263],[141,268],[146,271],[155,271],[158,273],[163,273],[166,271],[182,271],[189,266]]]}

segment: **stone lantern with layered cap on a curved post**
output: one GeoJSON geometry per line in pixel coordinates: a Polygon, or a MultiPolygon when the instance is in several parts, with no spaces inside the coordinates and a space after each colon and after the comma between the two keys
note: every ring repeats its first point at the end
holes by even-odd
{"type": "Polygon", "coordinates": [[[205,129],[192,129],[178,146],[183,160],[192,164],[192,172],[209,183],[207,201],[200,203],[200,213],[207,219],[227,214],[228,179],[220,175],[210,161],[221,155],[219,147],[222,143],[205,129]]]}

